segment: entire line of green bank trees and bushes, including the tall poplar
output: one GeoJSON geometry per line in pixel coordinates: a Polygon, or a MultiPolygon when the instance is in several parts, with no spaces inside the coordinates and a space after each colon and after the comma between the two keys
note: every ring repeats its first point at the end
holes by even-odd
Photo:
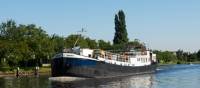
{"type": "MultiPolygon", "coordinates": [[[[52,57],[62,52],[64,48],[80,46],[80,48],[102,50],[145,50],[145,44],[139,39],[129,39],[125,14],[120,10],[114,17],[115,34],[113,43],[96,40],[81,34],[71,34],[67,37],[47,34],[42,27],[35,24],[16,24],[8,20],[0,24],[0,76],[14,74],[19,67],[21,72],[32,74],[32,69],[39,66],[40,73],[50,73],[50,67],[44,69],[43,64],[49,64],[52,57]],[[74,45],[76,40],[79,41],[74,45]],[[133,41],[130,41],[133,40],[133,41]]],[[[159,64],[200,63],[200,50],[190,53],[183,50],[160,51],[153,50],[159,64]]]]}

